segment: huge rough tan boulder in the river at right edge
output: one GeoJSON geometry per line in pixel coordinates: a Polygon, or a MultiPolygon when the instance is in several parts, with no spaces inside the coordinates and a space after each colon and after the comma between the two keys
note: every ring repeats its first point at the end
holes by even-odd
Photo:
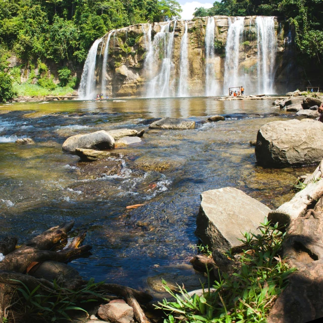
{"type": "Polygon", "coordinates": [[[257,134],[257,162],[265,167],[286,167],[319,162],[323,158],[323,123],[273,121],[257,134]]]}

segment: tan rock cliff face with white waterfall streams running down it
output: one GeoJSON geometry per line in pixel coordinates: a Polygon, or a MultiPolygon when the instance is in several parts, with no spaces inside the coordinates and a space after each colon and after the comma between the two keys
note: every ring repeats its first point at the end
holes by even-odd
{"type": "Polygon", "coordinates": [[[272,93],[284,93],[299,85],[299,78],[295,79],[299,71],[293,64],[291,37],[284,21],[272,18],[274,41],[268,48],[266,41],[270,42],[270,39],[266,39],[264,34],[269,28],[266,22],[261,26],[256,16],[244,17],[240,29],[228,32],[237,18],[215,16],[214,40],[211,38],[214,41],[213,56],[209,56],[206,53],[209,19],[189,20],[187,27],[183,20],[138,24],[106,34],[97,45],[96,62],[93,64],[95,71],[89,73],[95,82],[83,79],[80,95],[86,86],[92,86],[90,91],[87,88],[87,93],[90,93],[87,99],[96,93],[113,97],[180,96],[181,78],[186,82],[188,95],[201,96],[206,94],[206,82],[209,82],[206,80],[208,64],[211,65],[212,81],[216,84],[213,95],[227,94],[227,85],[244,85],[247,94],[259,94],[262,88],[268,87],[259,85],[262,79],[264,84],[270,83],[272,93]],[[187,59],[182,41],[186,30],[187,59]],[[233,52],[234,56],[231,55],[233,52]],[[181,77],[183,59],[188,66],[185,80],[181,77]]]}

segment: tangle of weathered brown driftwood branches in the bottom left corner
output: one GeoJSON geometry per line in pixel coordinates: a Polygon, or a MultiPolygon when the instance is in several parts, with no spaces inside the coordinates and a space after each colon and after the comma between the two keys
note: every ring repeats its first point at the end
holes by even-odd
{"type": "MultiPolygon", "coordinates": [[[[73,225],[74,221],[70,221],[52,227],[19,248],[16,248],[16,238],[6,238],[0,241],[0,252],[5,255],[5,259],[0,261],[0,323],[3,323],[4,318],[9,317],[9,312],[17,302],[14,295],[16,289],[21,287],[20,282],[25,284],[29,290],[39,286],[37,293],[41,295],[57,293],[53,282],[32,276],[32,268],[49,260],[66,262],[68,259],[78,257],[91,249],[89,245],[81,245],[86,236],[85,231],[80,232],[69,245],[63,248],[67,243],[67,233],[73,225]],[[28,272],[30,274],[26,274],[28,272]]],[[[64,287],[77,290],[88,282],[82,280],[76,274],[75,278],[62,283],[66,284],[64,287]]],[[[145,304],[151,301],[151,295],[117,284],[99,284],[95,291],[103,297],[107,297],[107,294],[114,294],[124,298],[128,305],[133,308],[137,322],[149,322],[140,303],[145,304]]],[[[86,295],[83,296],[81,300],[86,300],[86,297],[86,295]]],[[[90,294],[88,298],[96,299],[96,296],[90,294]]],[[[97,297],[97,299],[102,301],[100,297],[97,297]]]]}

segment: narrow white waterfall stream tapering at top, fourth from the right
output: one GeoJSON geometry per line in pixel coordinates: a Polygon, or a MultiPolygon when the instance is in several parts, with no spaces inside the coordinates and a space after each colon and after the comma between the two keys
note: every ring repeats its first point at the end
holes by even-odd
{"type": "Polygon", "coordinates": [[[180,41],[180,74],[178,96],[188,96],[189,77],[189,48],[188,48],[188,22],[185,22],[185,31],[180,41]]]}

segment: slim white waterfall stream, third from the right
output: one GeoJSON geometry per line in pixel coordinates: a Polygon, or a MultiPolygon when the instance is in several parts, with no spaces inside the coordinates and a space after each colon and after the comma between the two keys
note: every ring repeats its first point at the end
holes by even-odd
{"type": "Polygon", "coordinates": [[[205,32],[205,94],[214,96],[217,92],[214,55],[214,17],[209,17],[205,32]]]}

